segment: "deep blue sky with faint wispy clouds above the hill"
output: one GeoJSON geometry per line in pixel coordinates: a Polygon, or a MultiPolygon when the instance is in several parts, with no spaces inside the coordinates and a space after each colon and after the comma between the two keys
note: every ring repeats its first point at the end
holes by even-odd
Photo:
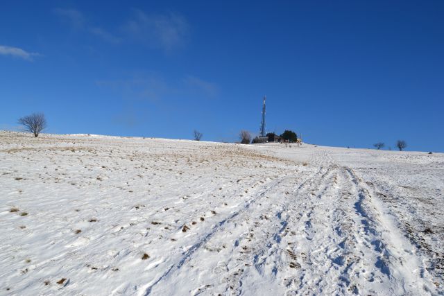
{"type": "Polygon", "coordinates": [[[1,1],[0,129],[444,150],[444,1],[1,1]]]}

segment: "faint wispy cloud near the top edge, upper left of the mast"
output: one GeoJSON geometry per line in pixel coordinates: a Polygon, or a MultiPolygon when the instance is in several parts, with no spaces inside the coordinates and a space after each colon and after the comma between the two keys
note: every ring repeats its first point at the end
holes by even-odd
{"type": "Polygon", "coordinates": [[[171,51],[185,44],[189,37],[189,24],[185,17],[176,13],[148,15],[142,10],[135,10],[123,31],[134,40],[171,51]]]}

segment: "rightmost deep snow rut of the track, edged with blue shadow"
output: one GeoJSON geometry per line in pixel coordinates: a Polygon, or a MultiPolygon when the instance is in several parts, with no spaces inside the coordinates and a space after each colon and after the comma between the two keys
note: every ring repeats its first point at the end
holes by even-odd
{"type": "MultiPolygon", "coordinates": [[[[377,195],[350,168],[343,168],[352,189],[357,191],[355,214],[361,218],[361,234],[367,243],[368,254],[373,253],[373,264],[394,294],[420,295],[432,292],[424,278],[424,268],[411,243],[402,235],[392,216],[377,195]]],[[[383,291],[382,291],[383,292],[383,291]]]]}

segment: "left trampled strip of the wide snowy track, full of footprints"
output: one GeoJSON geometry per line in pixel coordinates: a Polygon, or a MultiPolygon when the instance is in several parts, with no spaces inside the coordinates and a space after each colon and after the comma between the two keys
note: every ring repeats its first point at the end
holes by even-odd
{"type": "Polygon", "coordinates": [[[331,225],[330,212],[339,201],[337,177],[337,166],[330,165],[325,175],[314,182],[314,186],[298,196],[305,207],[300,213],[301,218],[291,223],[295,236],[286,240],[288,257],[294,262],[293,270],[289,270],[282,279],[289,288],[289,295],[304,290],[306,293],[323,292],[324,275],[330,270],[327,258],[336,249],[336,241],[340,241],[328,229],[331,225]]]}

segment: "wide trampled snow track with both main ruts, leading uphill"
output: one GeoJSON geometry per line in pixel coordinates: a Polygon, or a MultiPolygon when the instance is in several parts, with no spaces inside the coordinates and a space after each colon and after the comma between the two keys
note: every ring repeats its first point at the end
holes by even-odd
{"type": "Polygon", "coordinates": [[[386,229],[391,224],[379,222],[383,209],[371,203],[371,195],[359,178],[350,169],[332,164],[330,157],[318,157],[321,163],[326,159],[331,164],[330,175],[318,180],[317,198],[307,198],[301,192],[305,196],[299,198],[306,203],[299,209],[302,218],[288,223],[289,229],[298,229],[295,242],[285,241],[293,246],[289,256],[297,260],[300,270],[293,275],[288,272],[290,276],[284,278],[284,284],[290,288],[287,294],[372,294],[391,290],[395,294],[418,295],[428,290],[421,279],[416,281],[411,276],[411,272],[418,274],[418,259],[411,245],[404,244],[393,225],[386,229]],[[389,235],[381,233],[397,238],[391,242],[387,240],[389,235]],[[404,249],[397,250],[396,242],[404,249]],[[359,277],[364,277],[368,284],[357,284],[362,282],[356,281],[359,277]]]}

